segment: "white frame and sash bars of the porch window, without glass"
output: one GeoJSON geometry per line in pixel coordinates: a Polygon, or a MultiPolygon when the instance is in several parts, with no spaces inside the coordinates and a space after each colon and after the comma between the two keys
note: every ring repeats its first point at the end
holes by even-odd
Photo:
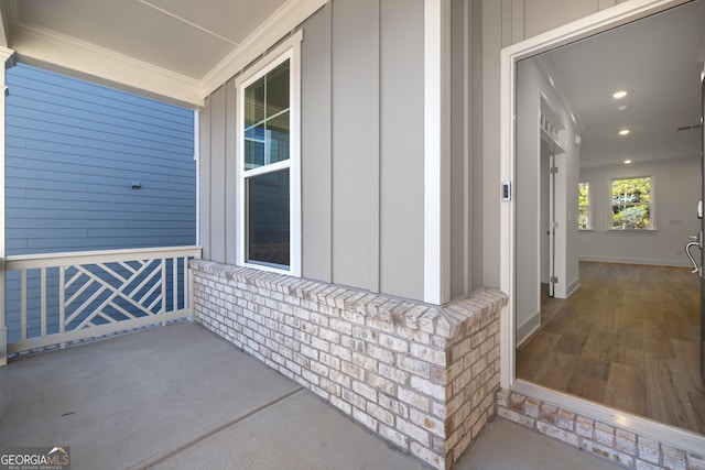
{"type": "Polygon", "coordinates": [[[264,58],[256,63],[240,75],[236,81],[237,95],[237,264],[261,271],[269,271],[293,276],[301,276],[301,42],[303,32],[297,31],[264,58]],[[248,86],[290,61],[290,151],[286,161],[252,170],[245,170],[245,90],[248,86]],[[247,262],[247,197],[245,193],[246,178],[260,174],[289,170],[289,205],[290,232],[289,269],[274,265],[247,262]]]}

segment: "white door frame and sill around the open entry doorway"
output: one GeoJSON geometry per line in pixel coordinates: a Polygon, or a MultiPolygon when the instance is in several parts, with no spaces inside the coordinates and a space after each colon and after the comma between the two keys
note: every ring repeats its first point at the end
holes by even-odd
{"type": "MultiPolygon", "coordinates": [[[[686,0],[632,0],[599,11],[584,19],[542,33],[501,51],[500,69],[500,181],[514,182],[516,167],[516,65],[517,62],[577,40],[607,31],[631,21],[686,3],[686,0]]],[[[539,401],[573,409],[603,423],[646,434],[681,448],[697,451],[705,448],[705,437],[640,416],[618,412],[565,393],[517,380],[516,375],[516,201],[500,207],[500,288],[509,296],[501,318],[501,387],[539,401]]]]}

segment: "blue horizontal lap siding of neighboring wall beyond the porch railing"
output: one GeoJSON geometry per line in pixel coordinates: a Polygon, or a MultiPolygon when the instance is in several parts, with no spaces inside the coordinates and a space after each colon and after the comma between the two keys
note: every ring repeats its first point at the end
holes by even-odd
{"type": "MultiPolygon", "coordinates": [[[[192,110],[22,64],[7,81],[9,255],[196,243],[192,110]]],[[[10,341],[20,335],[19,281],[8,273],[10,341]]],[[[58,330],[57,283],[58,271],[48,270],[48,332],[58,330]]],[[[28,336],[35,337],[37,270],[28,289],[28,336]]]]}

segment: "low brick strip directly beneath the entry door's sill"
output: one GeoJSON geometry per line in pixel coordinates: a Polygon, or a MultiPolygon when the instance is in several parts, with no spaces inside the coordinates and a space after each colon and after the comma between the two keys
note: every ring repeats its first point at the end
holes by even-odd
{"type": "Polygon", "coordinates": [[[500,390],[497,407],[506,419],[628,469],[705,470],[705,450],[687,452],[516,392],[500,390]]]}

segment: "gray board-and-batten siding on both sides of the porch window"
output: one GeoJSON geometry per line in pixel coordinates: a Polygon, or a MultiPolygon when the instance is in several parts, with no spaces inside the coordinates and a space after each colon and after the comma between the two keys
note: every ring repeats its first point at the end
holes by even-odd
{"type": "MultiPolygon", "coordinates": [[[[421,0],[336,0],[301,25],[303,277],[423,298],[423,21],[421,0]]],[[[236,100],[232,78],[199,123],[204,259],[230,264],[236,100]]]]}

